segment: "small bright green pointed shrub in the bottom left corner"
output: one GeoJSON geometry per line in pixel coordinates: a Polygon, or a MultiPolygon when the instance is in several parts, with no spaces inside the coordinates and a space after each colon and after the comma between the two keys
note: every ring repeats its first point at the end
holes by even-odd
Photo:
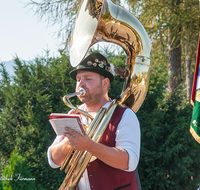
{"type": "Polygon", "coordinates": [[[9,158],[9,164],[3,172],[3,190],[30,189],[35,190],[35,178],[27,165],[26,159],[15,149],[9,158]]]}

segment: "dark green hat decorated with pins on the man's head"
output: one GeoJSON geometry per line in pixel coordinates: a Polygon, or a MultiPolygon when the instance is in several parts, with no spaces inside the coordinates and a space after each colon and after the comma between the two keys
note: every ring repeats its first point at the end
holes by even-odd
{"type": "Polygon", "coordinates": [[[76,69],[72,70],[69,74],[72,79],[76,80],[76,74],[78,71],[91,71],[109,78],[110,82],[112,82],[114,77],[110,70],[111,66],[107,59],[100,53],[93,53],[81,61],[76,69]]]}

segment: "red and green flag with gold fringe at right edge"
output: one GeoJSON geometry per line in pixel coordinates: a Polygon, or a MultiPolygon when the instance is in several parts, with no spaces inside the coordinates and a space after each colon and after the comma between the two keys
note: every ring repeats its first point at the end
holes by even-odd
{"type": "Polygon", "coordinates": [[[197,49],[197,59],[193,80],[193,88],[191,94],[191,104],[193,107],[192,120],[190,123],[190,133],[194,139],[200,143],[200,35],[197,49]]]}

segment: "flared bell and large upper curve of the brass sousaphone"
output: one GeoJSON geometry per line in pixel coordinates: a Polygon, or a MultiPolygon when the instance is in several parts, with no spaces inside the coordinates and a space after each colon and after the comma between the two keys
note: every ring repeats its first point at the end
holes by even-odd
{"type": "Polygon", "coordinates": [[[71,65],[76,67],[97,42],[117,44],[126,52],[125,69],[116,72],[124,78],[122,92],[131,88],[134,102],[128,106],[137,112],[150,79],[151,43],[146,30],[133,14],[110,0],[83,0],[71,39],[71,65]]]}

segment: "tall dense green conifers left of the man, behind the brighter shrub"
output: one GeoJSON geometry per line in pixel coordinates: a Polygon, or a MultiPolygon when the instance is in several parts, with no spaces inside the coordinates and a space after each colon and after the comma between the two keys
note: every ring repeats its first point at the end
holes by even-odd
{"type": "MultiPolygon", "coordinates": [[[[14,147],[27,159],[37,189],[56,189],[63,173],[51,169],[46,158],[48,146],[55,138],[49,123],[52,112],[68,112],[62,97],[74,92],[75,82],[69,78],[72,69],[67,56],[36,58],[23,62],[15,58],[15,76],[1,81],[0,154],[5,161],[14,147]]],[[[73,100],[73,103],[77,103],[73,100]]]]}

